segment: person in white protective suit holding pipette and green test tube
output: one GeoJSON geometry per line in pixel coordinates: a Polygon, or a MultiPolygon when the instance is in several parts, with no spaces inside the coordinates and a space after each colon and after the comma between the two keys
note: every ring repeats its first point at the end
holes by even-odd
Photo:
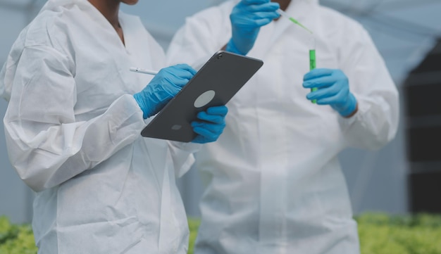
{"type": "Polygon", "coordinates": [[[167,58],[195,67],[218,49],[264,63],[227,104],[223,135],[196,154],[206,188],[195,253],[359,253],[337,155],[381,148],[399,120],[366,30],[318,0],[225,1],[187,18],[167,58]],[[316,70],[311,34],[278,8],[313,31],[316,70]]]}

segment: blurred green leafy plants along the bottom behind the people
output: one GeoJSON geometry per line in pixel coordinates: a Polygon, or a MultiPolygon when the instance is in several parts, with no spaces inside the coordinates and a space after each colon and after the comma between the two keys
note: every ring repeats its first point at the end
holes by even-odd
{"type": "MultiPolygon", "coordinates": [[[[359,224],[361,254],[441,254],[441,215],[387,215],[366,213],[356,216],[359,224]]],[[[200,221],[189,218],[189,254],[200,221]]],[[[0,254],[36,254],[29,224],[11,224],[0,217],[0,254]]]]}

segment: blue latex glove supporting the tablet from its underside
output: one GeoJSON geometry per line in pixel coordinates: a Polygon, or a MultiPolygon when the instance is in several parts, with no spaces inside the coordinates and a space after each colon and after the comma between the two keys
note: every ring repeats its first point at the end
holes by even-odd
{"type": "Polygon", "coordinates": [[[228,113],[226,106],[207,108],[197,114],[201,121],[191,123],[193,131],[198,135],[192,140],[193,143],[204,144],[218,139],[225,128],[225,115],[228,113]]]}

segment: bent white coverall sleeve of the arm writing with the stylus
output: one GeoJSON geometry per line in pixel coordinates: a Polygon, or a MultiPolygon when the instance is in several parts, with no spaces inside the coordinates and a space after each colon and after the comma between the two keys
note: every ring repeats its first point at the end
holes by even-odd
{"type": "Polygon", "coordinates": [[[129,94],[96,118],[75,120],[75,66],[55,49],[26,47],[16,64],[4,118],[6,144],[11,164],[33,190],[92,169],[139,137],[142,111],[129,94]]]}

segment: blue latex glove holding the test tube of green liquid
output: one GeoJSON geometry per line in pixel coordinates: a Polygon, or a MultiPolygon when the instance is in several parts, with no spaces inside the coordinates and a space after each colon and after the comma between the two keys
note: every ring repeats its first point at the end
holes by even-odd
{"type": "Polygon", "coordinates": [[[356,99],[349,91],[349,80],[342,70],[315,69],[304,75],[303,87],[311,89],[306,95],[309,100],[316,99],[317,104],[330,105],[343,117],[347,117],[356,110],[356,99]]]}

